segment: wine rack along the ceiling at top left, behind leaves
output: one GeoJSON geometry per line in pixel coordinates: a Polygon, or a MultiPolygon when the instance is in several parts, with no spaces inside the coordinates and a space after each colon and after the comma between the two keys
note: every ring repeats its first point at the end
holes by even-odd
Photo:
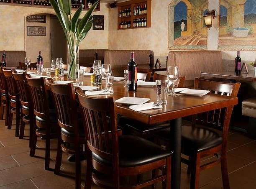
{"type": "MultiPolygon", "coordinates": [[[[92,5],[97,0],[71,0],[72,9],[77,9],[81,4],[84,4],[84,10],[88,10],[87,4],[90,2],[92,5]]],[[[99,0],[100,1],[100,0],[99,0]]],[[[21,6],[33,6],[33,7],[51,7],[49,0],[0,0],[0,5],[12,5],[19,4],[21,6]]],[[[98,3],[95,11],[100,10],[100,2],[98,3]]]]}

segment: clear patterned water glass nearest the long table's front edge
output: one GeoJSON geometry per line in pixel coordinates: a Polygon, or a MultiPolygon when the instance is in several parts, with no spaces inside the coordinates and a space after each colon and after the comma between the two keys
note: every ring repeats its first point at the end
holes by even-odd
{"type": "Polygon", "coordinates": [[[157,102],[167,103],[168,87],[168,80],[156,80],[157,102]]]}

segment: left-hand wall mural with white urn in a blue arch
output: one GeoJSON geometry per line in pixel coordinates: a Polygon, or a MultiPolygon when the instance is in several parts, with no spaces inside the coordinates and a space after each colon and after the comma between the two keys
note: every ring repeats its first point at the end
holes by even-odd
{"type": "Polygon", "coordinates": [[[206,49],[203,15],[207,0],[172,0],[169,5],[169,49],[206,49]]]}

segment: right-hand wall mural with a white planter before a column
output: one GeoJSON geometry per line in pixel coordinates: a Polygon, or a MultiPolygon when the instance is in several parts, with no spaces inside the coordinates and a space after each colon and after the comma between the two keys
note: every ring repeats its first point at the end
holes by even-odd
{"type": "Polygon", "coordinates": [[[219,50],[256,50],[256,0],[220,0],[219,50]]]}

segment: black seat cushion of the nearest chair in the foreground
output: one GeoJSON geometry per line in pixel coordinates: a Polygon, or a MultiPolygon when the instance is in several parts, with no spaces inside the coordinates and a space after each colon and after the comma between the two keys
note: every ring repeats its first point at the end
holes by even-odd
{"type": "MultiPolygon", "coordinates": [[[[167,151],[161,146],[141,137],[122,135],[118,140],[120,167],[145,165],[172,156],[172,151],[167,151]]],[[[112,164],[111,161],[101,158],[95,153],[92,153],[92,157],[100,163],[112,164]]]]}

